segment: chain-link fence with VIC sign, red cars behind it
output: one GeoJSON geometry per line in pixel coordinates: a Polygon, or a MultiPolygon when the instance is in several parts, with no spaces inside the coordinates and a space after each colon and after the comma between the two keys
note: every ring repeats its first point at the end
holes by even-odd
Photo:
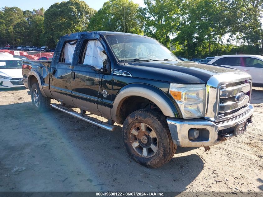
{"type": "Polygon", "coordinates": [[[47,51],[21,51],[21,50],[8,50],[8,49],[0,49],[0,52],[10,53],[12,55],[21,55],[25,56],[30,60],[36,60],[40,57],[53,57],[54,52],[47,51]]]}

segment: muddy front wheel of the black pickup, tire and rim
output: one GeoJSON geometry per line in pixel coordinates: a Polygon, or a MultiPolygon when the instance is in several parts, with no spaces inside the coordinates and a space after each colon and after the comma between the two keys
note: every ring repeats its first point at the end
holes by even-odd
{"type": "Polygon", "coordinates": [[[131,113],[122,127],[124,145],[130,156],[143,166],[161,167],[176,152],[165,116],[153,110],[131,113]]]}

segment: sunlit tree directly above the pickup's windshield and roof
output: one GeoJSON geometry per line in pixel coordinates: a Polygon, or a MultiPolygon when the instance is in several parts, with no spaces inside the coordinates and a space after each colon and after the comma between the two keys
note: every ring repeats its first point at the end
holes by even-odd
{"type": "Polygon", "coordinates": [[[129,0],[110,0],[92,17],[88,30],[143,34],[140,19],[138,4],[129,0]]]}

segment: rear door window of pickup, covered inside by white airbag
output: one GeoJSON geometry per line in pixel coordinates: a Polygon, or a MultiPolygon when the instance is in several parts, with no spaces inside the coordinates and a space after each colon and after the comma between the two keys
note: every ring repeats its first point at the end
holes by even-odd
{"type": "Polygon", "coordinates": [[[77,40],[66,41],[61,51],[59,62],[72,63],[73,54],[77,45],[77,40]]]}

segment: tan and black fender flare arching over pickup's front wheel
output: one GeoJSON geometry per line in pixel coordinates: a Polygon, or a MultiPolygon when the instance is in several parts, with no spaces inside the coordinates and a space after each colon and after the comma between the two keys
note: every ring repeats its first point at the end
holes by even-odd
{"type": "Polygon", "coordinates": [[[178,111],[174,106],[170,98],[157,87],[143,84],[143,83],[131,83],[120,89],[113,101],[113,107],[111,110],[111,117],[115,119],[119,112],[121,103],[129,96],[141,96],[152,101],[162,111],[163,115],[168,117],[179,117],[178,111]]]}

